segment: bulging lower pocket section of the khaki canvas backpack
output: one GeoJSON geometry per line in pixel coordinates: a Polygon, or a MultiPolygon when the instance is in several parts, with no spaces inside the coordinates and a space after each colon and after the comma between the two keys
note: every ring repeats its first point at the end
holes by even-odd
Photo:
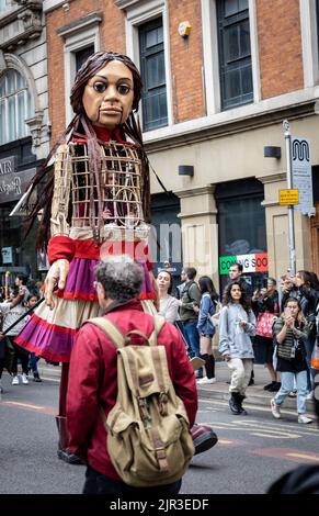
{"type": "Polygon", "coordinates": [[[164,485],[182,476],[194,455],[189,423],[182,412],[149,426],[124,411],[110,412],[109,455],[124,482],[135,486],[164,485]]]}

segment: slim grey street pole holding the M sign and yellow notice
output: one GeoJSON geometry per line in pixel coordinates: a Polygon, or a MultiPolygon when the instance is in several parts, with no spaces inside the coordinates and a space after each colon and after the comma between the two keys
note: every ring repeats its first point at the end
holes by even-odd
{"type": "MultiPolygon", "coordinates": [[[[287,159],[287,188],[293,188],[293,167],[292,167],[292,134],[290,124],[287,120],[283,122],[285,143],[286,143],[286,159],[287,159]]],[[[296,247],[295,247],[295,221],[294,221],[294,205],[288,205],[288,245],[289,245],[289,272],[292,276],[296,273],[296,247]]]]}

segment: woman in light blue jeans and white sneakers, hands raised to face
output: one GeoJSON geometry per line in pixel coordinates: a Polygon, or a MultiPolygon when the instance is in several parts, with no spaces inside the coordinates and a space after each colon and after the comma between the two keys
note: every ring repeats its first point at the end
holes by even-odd
{"type": "Polygon", "coordinates": [[[286,300],[284,313],[275,321],[273,333],[276,339],[276,369],[281,372],[282,386],[271,400],[272,414],[276,419],[282,417],[281,406],[293,391],[295,379],[298,423],[311,423],[312,419],[306,415],[308,367],[305,341],[308,338],[308,327],[298,300],[295,298],[286,300]]]}

